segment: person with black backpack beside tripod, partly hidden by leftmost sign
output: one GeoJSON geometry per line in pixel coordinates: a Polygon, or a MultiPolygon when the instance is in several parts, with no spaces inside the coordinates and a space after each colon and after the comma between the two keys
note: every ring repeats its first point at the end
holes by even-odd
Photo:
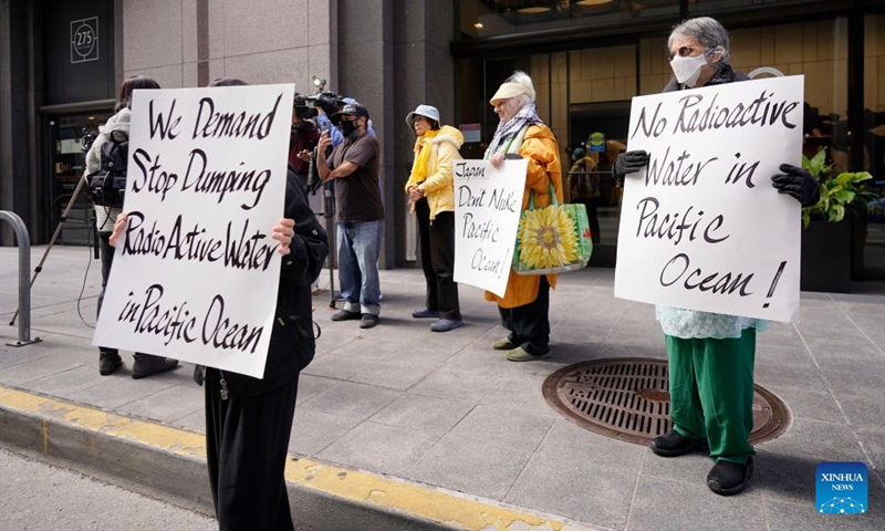
{"type": "MultiPolygon", "coordinates": [[[[102,312],[104,291],[114,262],[114,248],[110,243],[114,220],[123,208],[123,191],[126,189],[126,165],[128,163],[129,121],[132,118],[132,93],[136,90],[159,88],[159,83],[144,75],[134,75],[123,81],[117,93],[114,114],[105,125],[98,127],[98,136],[86,154],[86,171],[83,176],[92,191],[95,204],[95,223],[98,232],[98,250],[102,258],[102,291],[98,309],[102,312]]],[[[177,360],[136,352],[133,356],[133,378],[170,371],[178,366],[177,360]]],[[[107,376],[123,365],[116,348],[98,347],[98,374],[107,376]]]]}

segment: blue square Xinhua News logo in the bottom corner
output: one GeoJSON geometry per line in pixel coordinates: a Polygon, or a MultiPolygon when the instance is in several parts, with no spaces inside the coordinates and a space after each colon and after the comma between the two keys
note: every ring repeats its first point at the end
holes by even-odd
{"type": "Polygon", "coordinates": [[[818,465],[818,512],[863,514],[870,507],[866,497],[866,465],[822,462],[818,465]]]}

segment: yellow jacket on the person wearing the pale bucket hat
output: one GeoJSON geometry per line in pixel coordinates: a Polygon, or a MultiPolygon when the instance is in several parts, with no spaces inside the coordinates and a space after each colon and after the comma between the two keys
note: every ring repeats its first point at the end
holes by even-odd
{"type": "MultiPolygon", "coordinates": [[[[430,206],[430,221],[439,212],[455,211],[455,160],[461,158],[458,153],[464,135],[449,125],[440,127],[436,136],[429,140],[421,137],[415,140],[415,162],[406,183],[406,194],[413,186],[417,186],[424,192],[430,206]],[[430,149],[427,166],[423,168],[424,171],[416,170],[415,165],[419,163],[419,153],[425,145],[430,149]],[[419,180],[421,178],[424,180],[419,180]]],[[[412,206],[412,211],[415,212],[415,205],[412,206]]]]}

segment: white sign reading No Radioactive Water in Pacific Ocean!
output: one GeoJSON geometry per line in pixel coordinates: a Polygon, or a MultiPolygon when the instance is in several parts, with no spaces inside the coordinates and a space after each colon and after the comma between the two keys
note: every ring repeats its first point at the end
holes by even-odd
{"type": "Polygon", "coordinates": [[[615,296],[794,321],[800,205],[771,176],[801,166],[803,76],[633,98],[615,296]]]}

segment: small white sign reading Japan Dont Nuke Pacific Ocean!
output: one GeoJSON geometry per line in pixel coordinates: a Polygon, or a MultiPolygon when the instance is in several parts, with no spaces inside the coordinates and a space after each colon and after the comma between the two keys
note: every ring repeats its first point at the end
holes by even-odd
{"type": "Polygon", "coordinates": [[[504,296],[528,160],[455,162],[455,281],[504,296]]]}

